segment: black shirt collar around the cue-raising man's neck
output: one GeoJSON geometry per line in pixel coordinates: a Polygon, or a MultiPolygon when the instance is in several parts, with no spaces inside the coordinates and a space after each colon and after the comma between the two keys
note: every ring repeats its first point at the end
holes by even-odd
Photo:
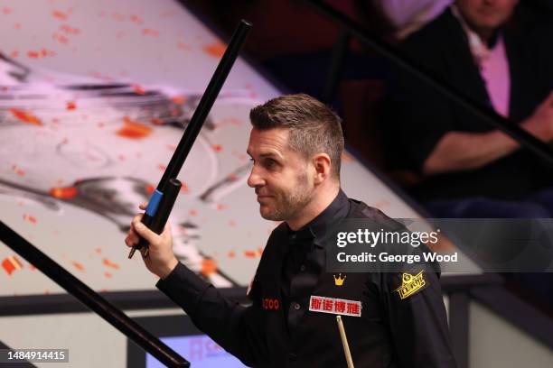
{"type": "Polygon", "coordinates": [[[323,212],[297,231],[293,231],[286,224],[288,236],[295,243],[310,242],[314,239],[316,245],[323,246],[321,240],[326,235],[326,231],[345,218],[349,212],[350,201],[342,189],[340,189],[336,198],[333,199],[333,202],[323,212]]]}

